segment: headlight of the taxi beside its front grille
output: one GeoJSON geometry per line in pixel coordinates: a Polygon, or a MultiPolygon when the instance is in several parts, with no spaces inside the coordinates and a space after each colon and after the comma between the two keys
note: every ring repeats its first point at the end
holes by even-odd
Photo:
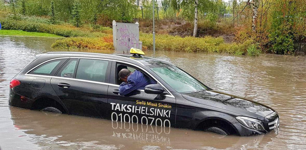
{"type": "Polygon", "coordinates": [[[246,127],[249,127],[255,130],[259,130],[259,131],[265,130],[260,120],[249,118],[249,117],[244,117],[244,116],[237,116],[236,119],[239,121],[239,123],[243,124],[246,127]]]}

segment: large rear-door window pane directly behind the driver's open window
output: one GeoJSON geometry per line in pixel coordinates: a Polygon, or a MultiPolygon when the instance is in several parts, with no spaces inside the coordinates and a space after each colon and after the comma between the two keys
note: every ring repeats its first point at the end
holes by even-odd
{"type": "Polygon", "coordinates": [[[80,59],[76,79],[105,82],[107,60],[80,59]]]}

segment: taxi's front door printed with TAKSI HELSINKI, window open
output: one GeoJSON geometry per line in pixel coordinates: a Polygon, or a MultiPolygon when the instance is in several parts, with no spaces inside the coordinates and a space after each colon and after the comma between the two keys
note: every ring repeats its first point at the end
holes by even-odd
{"type": "MultiPolygon", "coordinates": [[[[169,93],[147,94],[144,90],[135,90],[128,96],[118,94],[118,71],[128,68],[130,71],[139,70],[145,75],[147,72],[125,63],[112,63],[110,83],[108,88],[108,119],[113,121],[142,123],[157,126],[174,126],[176,100],[169,93]]],[[[153,79],[150,76],[151,79],[153,79]]],[[[155,81],[156,82],[156,81],[155,81]]]]}

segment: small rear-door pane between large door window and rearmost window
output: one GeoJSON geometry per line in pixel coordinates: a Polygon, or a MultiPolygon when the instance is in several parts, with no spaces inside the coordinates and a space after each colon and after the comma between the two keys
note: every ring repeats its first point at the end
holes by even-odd
{"type": "Polygon", "coordinates": [[[63,67],[58,71],[56,76],[65,78],[74,78],[76,72],[76,64],[78,59],[69,59],[63,67]]]}

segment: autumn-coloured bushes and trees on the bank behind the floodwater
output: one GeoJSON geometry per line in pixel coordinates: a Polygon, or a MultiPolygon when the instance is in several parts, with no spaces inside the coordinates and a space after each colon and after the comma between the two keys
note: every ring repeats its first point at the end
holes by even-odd
{"type": "MultiPolygon", "coordinates": [[[[138,7],[129,0],[1,1],[0,22],[5,30],[67,37],[56,41],[54,48],[113,49],[112,20],[138,21],[143,49],[152,49],[152,4],[149,0],[142,2],[143,6],[138,7]]],[[[230,5],[222,0],[198,0],[198,5],[194,2],[163,0],[163,7],[156,8],[157,50],[292,55],[294,43],[306,42],[304,0],[233,0],[230,5]]],[[[23,34],[5,30],[2,32],[23,34]]]]}

